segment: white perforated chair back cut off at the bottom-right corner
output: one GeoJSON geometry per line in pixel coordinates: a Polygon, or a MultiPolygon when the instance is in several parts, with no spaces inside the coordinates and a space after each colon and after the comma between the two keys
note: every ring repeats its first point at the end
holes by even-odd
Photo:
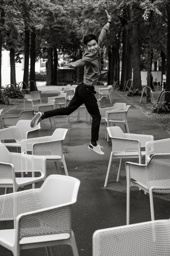
{"type": "Polygon", "coordinates": [[[96,230],[92,256],[169,256],[170,219],[96,230]]]}

